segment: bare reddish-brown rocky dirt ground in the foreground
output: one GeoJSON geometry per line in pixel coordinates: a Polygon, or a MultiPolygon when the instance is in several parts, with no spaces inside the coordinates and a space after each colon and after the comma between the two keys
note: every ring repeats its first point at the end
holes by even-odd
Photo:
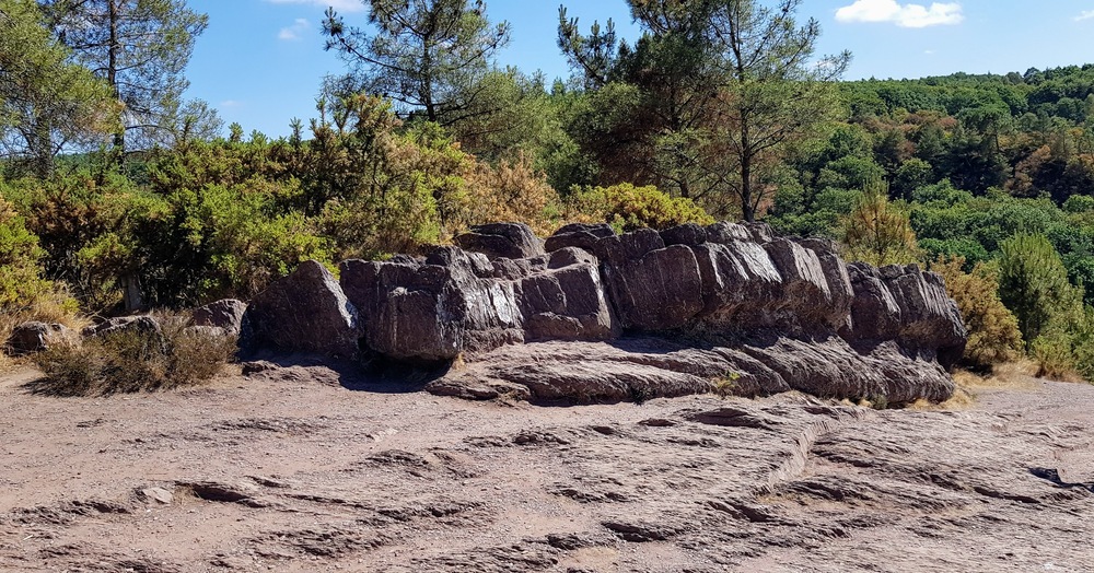
{"type": "Polygon", "coordinates": [[[1094,386],[572,408],[0,375],[2,571],[1094,571],[1094,386]]]}

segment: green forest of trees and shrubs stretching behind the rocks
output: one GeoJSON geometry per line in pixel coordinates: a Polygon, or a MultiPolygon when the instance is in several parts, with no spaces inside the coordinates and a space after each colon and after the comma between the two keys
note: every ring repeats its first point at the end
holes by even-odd
{"type": "Polygon", "coordinates": [[[548,82],[494,63],[481,0],[364,1],[327,11],[345,68],[275,139],[183,100],[184,0],[0,0],[0,338],[485,222],[744,219],[942,273],[969,367],[1094,377],[1094,65],[845,81],[802,0],[619,0],[641,36],[562,7],[548,82]]]}

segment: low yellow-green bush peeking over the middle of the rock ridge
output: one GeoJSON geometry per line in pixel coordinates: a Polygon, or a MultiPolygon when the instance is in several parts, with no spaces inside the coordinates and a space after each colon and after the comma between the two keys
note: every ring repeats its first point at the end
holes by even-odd
{"type": "Polygon", "coordinates": [[[612,224],[618,232],[668,229],[683,223],[710,224],[714,220],[688,199],[670,197],[656,187],[630,184],[579,189],[570,195],[570,219],[612,224]]]}

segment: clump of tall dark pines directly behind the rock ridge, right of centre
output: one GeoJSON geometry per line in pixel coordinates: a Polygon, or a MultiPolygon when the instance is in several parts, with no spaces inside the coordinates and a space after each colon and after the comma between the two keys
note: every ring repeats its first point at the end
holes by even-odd
{"type": "Polygon", "coordinates": [[[633,47],[617,44],[610,22],[582,35],[559,12],[559,46],[579,81],[622,104],[590,126],[605,137],[574,137],[605,167],[598,183],[652,184],[754,220],[779,163],[839,114],[833,81],[850,55],[813,57],[821,30],[798,25],[801,0],[628,3],[642,30],[633,47]]]}

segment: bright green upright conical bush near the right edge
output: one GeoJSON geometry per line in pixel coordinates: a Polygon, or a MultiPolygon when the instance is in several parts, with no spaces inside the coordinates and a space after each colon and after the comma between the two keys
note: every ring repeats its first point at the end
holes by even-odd
{"type": "Polygon", "coordinates": [[[1081,308],[1082,291],[1044,235],[1019,233],[1001,245],[999,295],[1019,319],[1027,348],[1081,308]]]}

